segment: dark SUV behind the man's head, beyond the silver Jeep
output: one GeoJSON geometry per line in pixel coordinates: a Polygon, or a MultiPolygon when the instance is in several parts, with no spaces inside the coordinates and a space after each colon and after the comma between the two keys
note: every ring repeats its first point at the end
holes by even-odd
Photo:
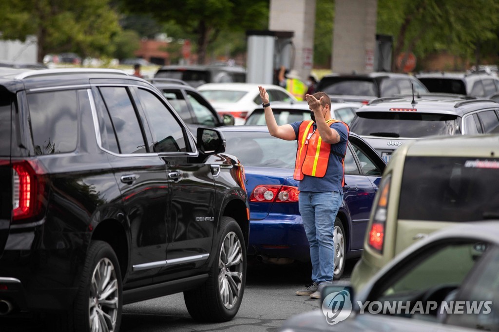
{"type": "Polygon", "coordinates": [[[427,93],[426,87],[414,76],[399,73],[330,74],[321,78],[315,91],[328,94],[334,102],[367,104],[379,97],[399,94],[427,93]]]}

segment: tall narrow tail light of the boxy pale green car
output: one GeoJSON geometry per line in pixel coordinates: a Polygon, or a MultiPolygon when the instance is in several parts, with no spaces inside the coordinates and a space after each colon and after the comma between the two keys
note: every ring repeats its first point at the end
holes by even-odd
{"type": "Polygon", "coordinates": [[[383,252],[385,240],[385,224],[388,212],[388,195],[390,193],[390,175],[387,175],[380,185],[380,196],[378,204],[374,209],[373,222],[369,230],[369,246],[379,252],[383,252]]]}

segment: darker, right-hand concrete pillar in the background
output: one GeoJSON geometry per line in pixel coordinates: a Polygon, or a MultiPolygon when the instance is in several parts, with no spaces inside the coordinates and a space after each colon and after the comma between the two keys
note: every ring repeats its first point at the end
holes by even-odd
{"type": "Polygon", "coordinates": [[[334,1],[333,72],[373,71],[377,6],[377,0],[334,1]]]}

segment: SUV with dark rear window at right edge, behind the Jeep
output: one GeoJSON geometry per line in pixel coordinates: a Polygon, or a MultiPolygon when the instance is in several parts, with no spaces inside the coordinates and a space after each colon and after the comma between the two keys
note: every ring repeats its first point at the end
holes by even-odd
{"type": "Polygon", "coordinates": [[[499,91],[499,78],[483,71],[470,73],[433,72],[416,75],[430,92],[489,98],[499,91]]]}

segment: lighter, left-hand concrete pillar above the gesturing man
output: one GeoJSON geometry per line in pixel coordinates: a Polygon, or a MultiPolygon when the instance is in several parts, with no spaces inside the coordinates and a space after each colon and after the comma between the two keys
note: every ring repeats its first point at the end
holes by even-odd
{"type": "Polygon", "coordinates": [[[314,27],[315,0],[270,0],[268,29],[294,32],[287,69],[296,69],[303,82],[313,66],[314,27]]]}

